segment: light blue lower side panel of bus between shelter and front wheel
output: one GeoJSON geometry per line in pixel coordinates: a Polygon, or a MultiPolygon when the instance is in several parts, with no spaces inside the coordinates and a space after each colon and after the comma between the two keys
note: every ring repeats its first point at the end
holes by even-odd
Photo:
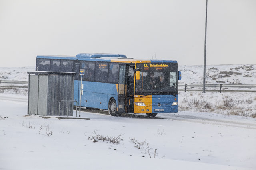
{"type": "MultiPolygon", "coordinates": [[[[80,101],[80,84],[80,81],[75,80],[74,100],[78,101],[78,105],[80,101]]],[[[114,97],[117,103],[116,84],[88,81],[83,81],[82,84],[84,84],[84,90],[81,99],[82,107],[92,107],[107,110],[108,101],[111,97],[114,97]]]]}

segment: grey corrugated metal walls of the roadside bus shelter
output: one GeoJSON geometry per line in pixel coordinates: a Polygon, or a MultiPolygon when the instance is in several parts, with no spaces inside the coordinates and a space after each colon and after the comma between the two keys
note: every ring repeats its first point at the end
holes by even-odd
{"type": "Polygon", "coordinates": [[[30,75],[28,114],[58,116],[60,104],[60,116],[73,116],[74,102],[60,100],[74,100],[74,76],[30,75]]]}

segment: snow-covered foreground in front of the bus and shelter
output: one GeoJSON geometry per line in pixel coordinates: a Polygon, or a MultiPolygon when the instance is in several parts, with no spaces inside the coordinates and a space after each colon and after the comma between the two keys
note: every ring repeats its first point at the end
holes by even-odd
{"type": "Polygon", "coordinates": [[[25,116],[27,97],[11,94],[0,94],[0,108],[3,170],[256,169],[251,117],[179,111],[154,119],[88,112],[81,117],[90,120],[43,119],[25,116]],[[122,140],[94,143],[94,131],[104,137],[121,134],[122,140]],[[133,138],[145,141],[143,149],[133,138]]]}

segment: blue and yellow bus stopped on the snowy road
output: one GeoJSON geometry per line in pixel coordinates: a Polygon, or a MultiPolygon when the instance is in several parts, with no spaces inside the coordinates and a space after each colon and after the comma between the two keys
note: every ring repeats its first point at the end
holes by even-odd
{"type": "Polygon", "coordinates": [[[81,107],[108,110],[112,116],[121,113],[178,112],[178,80],[181,72],[173,60],[144,60],[118,54],[78,54],[76,56],[37,56],[36,70],[76,72],[74,100],[81,107]],[[78,104],[80,105],[80,104],[78,104]]]}

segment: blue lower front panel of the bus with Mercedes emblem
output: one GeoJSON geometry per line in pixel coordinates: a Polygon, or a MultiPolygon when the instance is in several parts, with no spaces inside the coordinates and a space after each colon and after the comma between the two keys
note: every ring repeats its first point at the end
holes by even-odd
{"type": "Polygon", "coordinates": [[[152,113],[177,113],[178,105],[172,106],[173,102],[178,102],[178,95],[176,97],[173,95],[152,95],[152,113]],[[161,106],[157,106],[158,103],[161,106]],[[164,111],[154,111],[155,109],[164,109],[164,111]]]}

